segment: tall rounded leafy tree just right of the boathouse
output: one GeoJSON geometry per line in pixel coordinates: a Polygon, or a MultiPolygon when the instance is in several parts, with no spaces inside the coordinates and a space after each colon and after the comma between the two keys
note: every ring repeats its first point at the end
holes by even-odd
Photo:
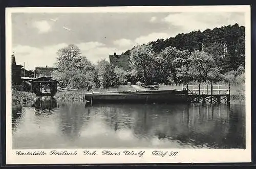
{"type": "Polygon", "coordinates": [[[89,84],[99,87],[95,67],[86,57],[81,56],[76,45],[63,47],[57,54],[58,69],[53,72],[53,78],[59,81],[60,86],[86,89],[89,84]]]}

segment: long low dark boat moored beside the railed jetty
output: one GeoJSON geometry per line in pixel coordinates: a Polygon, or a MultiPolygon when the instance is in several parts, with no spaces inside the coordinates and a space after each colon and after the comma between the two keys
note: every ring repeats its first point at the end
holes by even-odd
{"type": "Polygon", "coordinates": [[[109,91],[86,93],[84,101],[91,103],[184,103],[187,90],[109,91]]]}

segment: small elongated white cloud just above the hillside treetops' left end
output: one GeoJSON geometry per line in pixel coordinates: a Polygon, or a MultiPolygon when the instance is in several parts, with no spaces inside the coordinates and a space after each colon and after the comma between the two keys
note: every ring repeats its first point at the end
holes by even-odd
{"type": "Polygon", "coordinates": [[[146,36],[140,36],[135,39],[137,44],[147,43],[150,41],[156,41],[157,39],[166,39],[169,38],[170,35],[167,33],[151,33],[146,36]]]}

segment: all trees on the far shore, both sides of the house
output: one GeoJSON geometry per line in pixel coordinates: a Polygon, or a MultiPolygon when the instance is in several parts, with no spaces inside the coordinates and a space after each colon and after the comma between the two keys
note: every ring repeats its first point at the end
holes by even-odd
{"type": "Polygon", "coordinates": [[[93,64],[73,44],[57,54],[53,77],[68,88],[108,88],[128,81],[147,85],[245,82],[245,27],[238,24],[134,46],[124,52],[130,54],[130,71],[106,60],[93,64]]]}

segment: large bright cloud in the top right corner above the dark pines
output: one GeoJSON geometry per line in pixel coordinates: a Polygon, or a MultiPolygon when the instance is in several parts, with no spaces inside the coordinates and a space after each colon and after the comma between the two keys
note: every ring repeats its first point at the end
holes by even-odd
{"type": "Polygon", "coordinates": [[[208,28],[214,29],[216,27],[233,25],[234,23],[244,25],[244,15],[242,13],[230,12],[182,12],[169,14],[163,18],[162,21],[167,22],[172,26],[180,27],[181,29],[179,33],[188,33],[190,31],[204,31],[208,28]]]}

